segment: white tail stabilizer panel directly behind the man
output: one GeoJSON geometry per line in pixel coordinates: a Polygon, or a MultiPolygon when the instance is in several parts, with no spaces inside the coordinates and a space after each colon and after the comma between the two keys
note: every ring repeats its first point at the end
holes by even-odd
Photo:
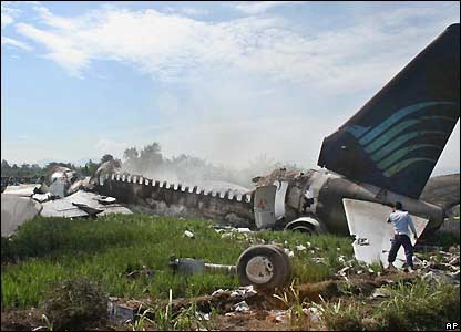
{"type": "MultiPolygon", "coordinates": [[[[357,260],[366,263],[381,261],[388,267],[388,253],[393,239],[393,228],[386,222],[392,209],[388,206],[344,198],[342,204],[346,210],[349,232],[356,237],[352,243],[354,255],[357,260]]],[[[418,237],[422,234],[429,220],[411,215],[418,237]]],[[[414,246],[414,238],[411,243],[414,246]]],[[[406,261],[404,250],[401,247],[397,253],[395,266],[401,268],[406,261]]]]}

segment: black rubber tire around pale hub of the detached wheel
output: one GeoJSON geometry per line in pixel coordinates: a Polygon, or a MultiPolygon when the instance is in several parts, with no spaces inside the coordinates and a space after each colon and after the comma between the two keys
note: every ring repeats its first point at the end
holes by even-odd
{"type": "Polygon", "coordinates": [[[284,286],[290,271],[287,270],[289,264],[288,256],[280,252],[280,249],[272,245],[259,245],[246,249],[237,260],[237,277],[242,286],[253,284],[255,288],[268,289],[284,286]],[[265,256],[273,264],[273,277],[265,283],[254,283],[246,274],[248,261],[256,256],[265,256]],[[288,263],[287,263],[288,262],[288,263]]]}

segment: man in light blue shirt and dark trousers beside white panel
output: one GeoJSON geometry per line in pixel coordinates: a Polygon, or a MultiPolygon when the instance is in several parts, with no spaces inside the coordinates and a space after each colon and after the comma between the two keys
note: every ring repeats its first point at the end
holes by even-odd
{"type": "Polygon", "coordinates": [[[388,222],[392,222],[396,234],[388,256],[389,269],[396,268],[393,266],[393,261],[396,260],[400,246],[403,246],[404,256],[407,257],[407,266],[411,272],[413,270],[413,246],[411,245],[409,228],[413,232],[416,240],[418,239],[418,235],[410,214],[408,211],[403,211],[403,207],[400,201],[396,201],[393,205],[393,210],[388,218],[388,222]]]}

